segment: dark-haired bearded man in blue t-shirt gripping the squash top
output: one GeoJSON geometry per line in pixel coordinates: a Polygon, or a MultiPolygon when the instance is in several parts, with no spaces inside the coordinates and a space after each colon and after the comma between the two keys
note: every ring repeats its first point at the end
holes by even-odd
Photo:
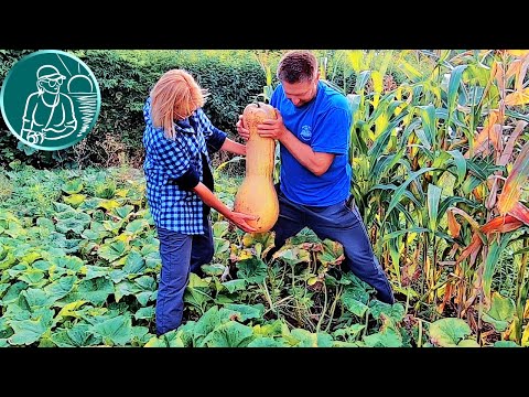
{"type": "MultiPolygon", "coordinates": [[[[278,65],[281,83],[270,98],[278,119],[259,126],[261,137],[280,142],[281,172],[276,247],[305,226],[321,238],[344,246],[346,266],[393,303],[391,286],[375,257],[364,222],[348,203],[352,169],[347,159],[352,114],[347,98],[320,81],[317,60],[310,51],[290,51],[278,65]]],[[[249,131],[237,122],[238,133],[249,131]]]]}

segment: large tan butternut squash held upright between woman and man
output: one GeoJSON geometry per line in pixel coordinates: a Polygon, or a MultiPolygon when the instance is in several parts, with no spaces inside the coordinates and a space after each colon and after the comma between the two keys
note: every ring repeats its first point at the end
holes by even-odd
{"type": "Polygon", "coordinates": [[[276,110],[264,103],[249,104],[242,111],[246,128],[250,137],[246,142],[246,175],[234,203],[234,210],[257,215],[248,224],[256,227],[256,233],[270,230],[278,221],[279,202],[273,187],[273,163],[276,141],[262,138],[257,132],[257,125],[264,119],[276,119],[276,110]]]}

